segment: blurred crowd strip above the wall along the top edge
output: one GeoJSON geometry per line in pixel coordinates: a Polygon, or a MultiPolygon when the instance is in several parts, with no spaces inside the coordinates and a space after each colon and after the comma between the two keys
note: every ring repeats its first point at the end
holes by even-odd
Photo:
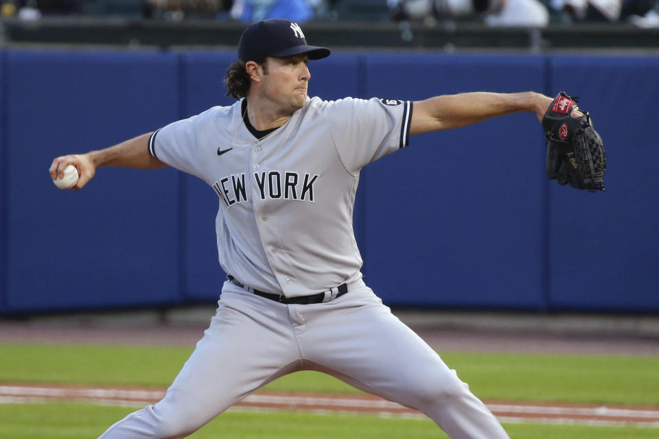
{"type": "Polygon", "coordinates": [[[545,27],[553,23],[627,23],[659,27],[659,0],[0,0],[3,17],[119,16],[170,21],[248,23],[262,18],[308,21],[485,23],[545,27]]]}

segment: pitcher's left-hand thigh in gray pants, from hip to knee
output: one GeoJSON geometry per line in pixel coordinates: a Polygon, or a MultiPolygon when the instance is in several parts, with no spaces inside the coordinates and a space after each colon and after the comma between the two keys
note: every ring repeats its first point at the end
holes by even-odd
{"type": "Polygon", "coordinates": [[[166,401],[177,417],[205,423],[298,361],[288,313],[262,309],[271,305],[264,300],[223,295],[209,329],[155,408],[166,401]]]}

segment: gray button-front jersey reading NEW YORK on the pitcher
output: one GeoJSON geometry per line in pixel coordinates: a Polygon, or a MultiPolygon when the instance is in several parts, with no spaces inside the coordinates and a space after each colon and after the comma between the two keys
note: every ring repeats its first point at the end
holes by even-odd
{"type": "Polygon", "coordinates": [[[154,132],[150,154],[218,194],[224,272],[287,297],[361,277],[352,213],[359,171],[408,144],[412,103],[307,98],[284,126],[255,138],[242,101],[154,132]]]}

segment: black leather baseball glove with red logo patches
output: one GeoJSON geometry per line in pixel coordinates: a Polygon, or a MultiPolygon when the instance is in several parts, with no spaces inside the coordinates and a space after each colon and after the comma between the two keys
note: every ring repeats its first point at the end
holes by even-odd
{"type": "Polygon", "coordinates": [[[547,138],[547,177],[559,185],[604,190],[606,154],[602,138],[592,127],[588,112],[572,117],[577,98],[559,93],[542,118],[547,138]]]}

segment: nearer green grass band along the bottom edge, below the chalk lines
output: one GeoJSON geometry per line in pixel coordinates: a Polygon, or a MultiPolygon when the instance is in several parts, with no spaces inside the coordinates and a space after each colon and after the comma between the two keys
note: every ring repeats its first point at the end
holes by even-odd
{"type": "MultiPolygon", "coordinates": [[[[0,438],[96,438],[132,409],[96,405],[0,405],[0,438]]],[[[504,424],[511,439],[656,439],[658,429],[504,424]]],[[[225,412],[193,439],[447,438],[430,420],[297,412],[225,412]]]]}

